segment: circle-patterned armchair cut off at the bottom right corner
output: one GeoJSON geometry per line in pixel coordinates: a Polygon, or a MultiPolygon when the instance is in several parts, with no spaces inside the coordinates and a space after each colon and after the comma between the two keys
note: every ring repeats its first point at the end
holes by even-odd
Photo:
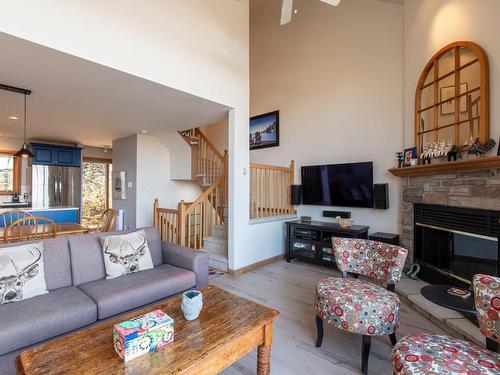
{"type": "Polygon", "coordinates": [[[487,349],[449,336],[414,333],[403,337],[392,350],[396,375],[500,374],[500,278],[475,275],[473,285],[487,349]]]}

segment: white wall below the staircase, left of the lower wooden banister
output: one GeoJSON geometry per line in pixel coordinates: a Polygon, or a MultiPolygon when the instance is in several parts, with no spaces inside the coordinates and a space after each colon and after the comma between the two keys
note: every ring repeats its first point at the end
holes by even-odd
{"type": "Polygon", "coordinates": [[[169,149],[156,137],[137,136],[137,227],[153,225],[153,201],[177,208],[181,200],[193,201],[202,193],[194,182],[172,181],[169,149]]]}

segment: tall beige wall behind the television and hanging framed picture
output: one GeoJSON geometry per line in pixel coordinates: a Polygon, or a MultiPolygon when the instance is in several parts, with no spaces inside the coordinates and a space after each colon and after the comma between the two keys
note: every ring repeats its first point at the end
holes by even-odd
{"type": "MultiPolygon", "coordinates": [[[[388,182],[390,208],[352,211],[370,232],[399,232],[399,184],[387,169],[402,149],[403,8],[368,0],[297,1],[299,12],[279,26],[280,1],[254,0],[250,18],[251,114],[280,110],[280,146],[250,152],[252,162],[300,166],[374,162],[374,182],[388,182]]],[[[331,207],[299,206],[323,218],[331,207]]],[[[282,223],[253,225],[257,257],[283,248],[282,223]]]]}

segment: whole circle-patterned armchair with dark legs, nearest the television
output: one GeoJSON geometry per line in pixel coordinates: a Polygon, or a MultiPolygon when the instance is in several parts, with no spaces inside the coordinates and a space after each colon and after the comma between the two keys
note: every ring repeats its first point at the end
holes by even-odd
{"type": "Polygon", "coordinates": [[[401,278],[408,250],[364,239],[333,238],[333,252],[342,278],[329,277],[316,286],[316,346],[323,341],[323,320],[362,335],[363,374],[368,371],[371,337],[389,335],[396,344],[399,297],[394,284],[401,278]],[[353,278],[347,278],[349,274],[353,278]],[[381,284],[357,279],[367,276],[381,284]]]}

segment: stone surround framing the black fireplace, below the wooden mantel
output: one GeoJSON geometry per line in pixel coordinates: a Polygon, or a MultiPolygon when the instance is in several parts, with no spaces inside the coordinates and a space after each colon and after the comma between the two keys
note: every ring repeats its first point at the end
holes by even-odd
{"type": "Polygon", "coordinates": [[[401,244],[415,261],[415,205],[444,205],[500,211],[500,169],[404,176],[402,180],[401,244]]]}

